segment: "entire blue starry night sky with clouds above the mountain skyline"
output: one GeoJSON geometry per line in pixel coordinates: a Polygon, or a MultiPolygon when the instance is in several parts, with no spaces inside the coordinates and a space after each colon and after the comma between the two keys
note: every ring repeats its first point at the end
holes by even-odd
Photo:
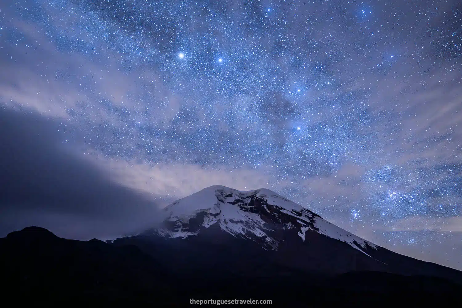
{"type": "Polygon", "coordinates": [[[458,0],[3,0],[1,235],[266,187],[462,270],[458,0]]]}

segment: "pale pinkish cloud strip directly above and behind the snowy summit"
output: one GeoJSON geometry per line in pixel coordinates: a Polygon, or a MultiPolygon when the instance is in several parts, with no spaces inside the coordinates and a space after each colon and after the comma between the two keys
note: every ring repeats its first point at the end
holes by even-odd
{"type": "Polygon", "coordinates": [[[238,190],[276,189],[271,177],[261,170],[230,169],[225,165],[214,168],[179,163],[150,165],[145,162],[107,160],[98,154],[88,158],[104,174],[109,175],[111,181],[136,191],[169,198],[179,199],[212,185],[238,190]]]}

